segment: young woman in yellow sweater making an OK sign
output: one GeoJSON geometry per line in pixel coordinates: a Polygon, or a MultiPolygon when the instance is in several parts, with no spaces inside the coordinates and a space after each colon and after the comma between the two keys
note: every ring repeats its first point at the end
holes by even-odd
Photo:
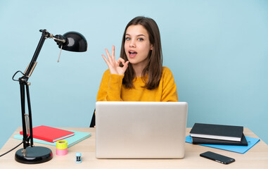
{"type": "Polygon", "coordinates": [[[160,32],[155,20],[136,17],[122,39],[120,58],[106,49],[97,101],[178,101],[172,72],[162,66],[160,32]]]}

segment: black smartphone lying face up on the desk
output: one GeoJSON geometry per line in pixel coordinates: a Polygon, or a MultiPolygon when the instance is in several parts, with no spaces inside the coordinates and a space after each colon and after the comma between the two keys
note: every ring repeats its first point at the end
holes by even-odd
{"type": "Polygon", "coordinates": [[[213,160],[213,161],[217,161],[219,163],[223,163],[223,164],[229,164],[229,163],[232,163],[235,161],[234,158],[222,156],[220,154],[216,154],[216,153],[213,153],[211,151],[207,151],[203,154],[200,154],[200,156],[208,158],[208,159],[213,160]]]}

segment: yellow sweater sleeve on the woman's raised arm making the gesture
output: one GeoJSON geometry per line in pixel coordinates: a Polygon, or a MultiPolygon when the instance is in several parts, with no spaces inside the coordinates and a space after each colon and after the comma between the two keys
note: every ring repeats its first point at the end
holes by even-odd
{"type": "Polygon", "coordinates": [[[124,75],[110,74],[109,70],[103,73],[98,89],[97,101],[122,101],[121,87],[124,75]]]}

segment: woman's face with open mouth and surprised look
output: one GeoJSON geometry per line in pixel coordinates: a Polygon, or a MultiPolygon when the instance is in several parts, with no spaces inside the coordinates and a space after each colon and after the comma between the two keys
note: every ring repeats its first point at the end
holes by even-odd
{"type": "Polygon", "coordinates": [[[153,49],[147,30],[142,25],[130,25],[125,35],[125,53],[132,65],[148,64],[149,51],[153,49]]]}

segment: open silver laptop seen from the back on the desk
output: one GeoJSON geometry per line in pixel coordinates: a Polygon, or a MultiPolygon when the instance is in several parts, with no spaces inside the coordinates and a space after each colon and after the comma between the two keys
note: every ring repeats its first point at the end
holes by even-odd
{"type": "Polygon", "coordinates": [[[184,158],[186,102],[97,101],[96,158],[184,158]]]}

